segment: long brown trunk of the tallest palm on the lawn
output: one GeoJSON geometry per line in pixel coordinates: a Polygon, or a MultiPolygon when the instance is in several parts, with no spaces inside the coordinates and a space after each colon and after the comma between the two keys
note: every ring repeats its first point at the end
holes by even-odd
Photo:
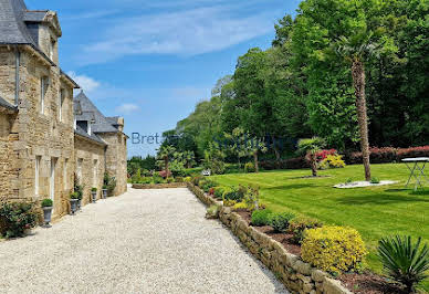
{"type": "Polygon", "coordinates": [[[365,167],[365,180],[370,181],[370,164],[369,164],[369,141],[368,141],[368,117],[366,114],[366,97],[365,97],[365,66],[359,60],[355,60],[352,64],[353,85],[356,95],[357,120],[359,124],[360,134],[360,150],[365,167]]]}

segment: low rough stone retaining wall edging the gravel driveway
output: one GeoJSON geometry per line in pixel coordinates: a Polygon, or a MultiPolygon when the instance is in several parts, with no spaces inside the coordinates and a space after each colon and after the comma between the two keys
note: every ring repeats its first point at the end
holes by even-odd
{"type": "Polygon", "coordinates": [[[249,251],[266,265],[292,293],[350,294],[339,281],[331,279],[323,271],[312,267],[299,256],[289,253],[284,246],[269,235],[248,225],[240,214],[232,212],[222,202],[207,196],[200,188],[188,183],[188,188],[205,204],[221,206],[219,218],[240,239],[249,251]]]}

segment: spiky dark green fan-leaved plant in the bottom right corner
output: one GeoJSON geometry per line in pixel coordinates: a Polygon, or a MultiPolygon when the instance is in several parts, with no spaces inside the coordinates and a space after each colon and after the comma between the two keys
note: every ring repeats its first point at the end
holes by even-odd
{"type": "Polygon", "coordinates": [[[417,243],[411,237],[381,239],[378,242],[378,256],[387,275],[407,287],[407,293],[414,293],[418,283],[428,277],[429,249],[420,248],[421,238],[417,243]]]}

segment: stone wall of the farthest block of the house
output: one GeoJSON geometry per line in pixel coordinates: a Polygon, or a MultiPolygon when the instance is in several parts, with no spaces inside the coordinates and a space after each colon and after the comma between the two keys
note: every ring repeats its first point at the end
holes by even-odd
{"type": "Polygon", "coordinates": [[[108,146],[106,150],[106,170],[116,178],[115,196],[127,191],[127,137],[123,133],[97,133],[108,146]]]}

